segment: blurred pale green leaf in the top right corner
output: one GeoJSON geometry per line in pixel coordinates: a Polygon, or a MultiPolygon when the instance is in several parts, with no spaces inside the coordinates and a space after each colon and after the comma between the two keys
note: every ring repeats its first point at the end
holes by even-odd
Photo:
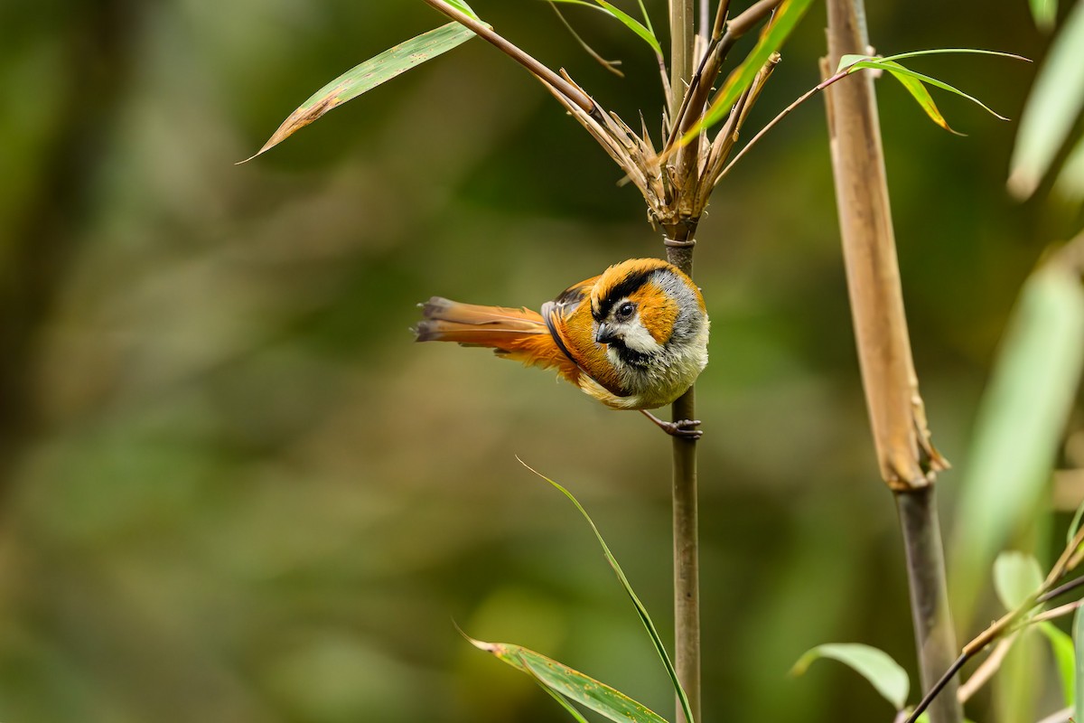
{"type": "Polygon", "coordinates": [[[1050,44],[1020,117],[1008,186],[1027,198],[1046,176],[1084,109],[1084,3],[1077,2],[1050,44]]]}

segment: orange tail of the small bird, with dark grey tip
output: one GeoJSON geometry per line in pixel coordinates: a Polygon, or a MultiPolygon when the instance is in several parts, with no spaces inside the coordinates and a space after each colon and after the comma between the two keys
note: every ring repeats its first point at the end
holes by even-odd
{"type": "Polygon", "coordinates": [[[537,311],[460,304],[439,296],[422,305],[414,333],[418,341],[457,341],[505,353],[521,348],[527,337],[550,335],[537,311]]]}

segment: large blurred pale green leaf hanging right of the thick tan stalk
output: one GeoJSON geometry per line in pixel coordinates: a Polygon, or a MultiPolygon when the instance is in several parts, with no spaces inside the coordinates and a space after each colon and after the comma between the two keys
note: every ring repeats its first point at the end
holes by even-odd
{"type": "Polygon", "coordinates": [[[954,612],[967,624],[989,569],[1046,493],[1084,369],[1084,289],[1049,262],[1021,291],[976,422],[957,505],[954,612]]]}

